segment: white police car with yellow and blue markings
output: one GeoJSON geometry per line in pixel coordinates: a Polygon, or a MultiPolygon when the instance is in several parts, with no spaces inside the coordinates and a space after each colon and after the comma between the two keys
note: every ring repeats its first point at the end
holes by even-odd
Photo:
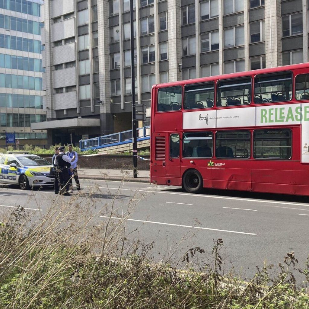
{"type": "Polygon", "coordinates": [[[0,182],[18,184],[22,190],[32,186],[51,186],[55,178],[52,165],[38,155],[12,151],[0,154],[0,182]]]}

